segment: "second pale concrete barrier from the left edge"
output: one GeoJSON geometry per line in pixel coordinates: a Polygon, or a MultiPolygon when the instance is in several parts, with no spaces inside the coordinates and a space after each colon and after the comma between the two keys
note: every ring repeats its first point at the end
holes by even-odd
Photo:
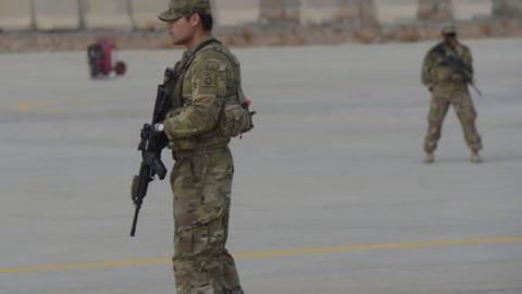
{"type": "Polygon", "coordinates": [[[77,29],[79,27],[77,1],[37,0],[33,2],[38,30],[77,29]]]}

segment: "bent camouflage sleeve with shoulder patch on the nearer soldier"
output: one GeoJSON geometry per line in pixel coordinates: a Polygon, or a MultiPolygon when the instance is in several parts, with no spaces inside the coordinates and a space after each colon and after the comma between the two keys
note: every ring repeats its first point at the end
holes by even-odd
{"type": "Polygon", "coordinates": [[[215,59],[198,62],[191,85],[189,102],[181,110],[169,113],[163,122],[171,138],[203,134],[215,126],[226,90],[224,63],[215,59]]]}

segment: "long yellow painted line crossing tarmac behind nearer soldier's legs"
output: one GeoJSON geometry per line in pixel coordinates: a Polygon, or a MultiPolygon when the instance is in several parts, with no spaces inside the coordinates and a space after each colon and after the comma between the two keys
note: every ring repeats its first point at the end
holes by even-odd
{"type": "MultiPolygon", "coordinates": [[[[501,245],[510,243],[522,243],[522,236],[505,236],[505,237],[478,237],[463,240],[447,241],[420,241],[411,243],[385,243],[385,244],[353,244],[339,247],[316,247],[316,248],[296,248],[288,250],[266,250],[266,252],[247,252],[236,253],[236,259],[256,259],[256,258],[275,258],[285,256],[300,255],[319,255],[319,254],[340,254],[350,252],[371,252],[371,250],[388,250],[388,249],[415,249],[415,248],[436,248],[463,245],[501,245]]],[[[23,266],[0,268],[0,273],[30,273],[30,272],[49,272],[49,271],[69,271],[83,269],[104,269],[104,268],[123,268],[138,266],[157,266],[171,264],[170,258],[147,258],[121,261],[99,261],[70,265],[48,265],[48,266],[23,266]]]]}

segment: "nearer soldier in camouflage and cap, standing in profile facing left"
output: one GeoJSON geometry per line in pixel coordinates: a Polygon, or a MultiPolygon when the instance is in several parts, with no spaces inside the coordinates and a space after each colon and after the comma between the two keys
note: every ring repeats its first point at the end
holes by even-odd
{"type": "MultiPolygon", "coordinates": [[[[159,15],[173,45],[187,48],[163,121],[175,160],[174,277],[178,294],[241,294],[234,258],[225,248],[234,164],[220,131],[228,100],[243,94],[239,62],[211,35],[209,0],[171,0],[159,15]]],[[[167,78],[167,77],[165,77],[167,78]]]]}

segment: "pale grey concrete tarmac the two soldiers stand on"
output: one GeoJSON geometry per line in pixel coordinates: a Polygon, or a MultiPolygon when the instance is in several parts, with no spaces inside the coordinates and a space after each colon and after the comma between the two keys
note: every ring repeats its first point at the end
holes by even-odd
{"type": "MultiPolygon", "coordinates": [[[[234,50],[256,128],[235,139],[228,247],[248,294],[522,293],[522,39],[473,40],[485,150],[451,111],[422,163],[433,42],[234,50]]],[[[0,293],[174,293],[172,196],[137,236],[139,128],[172,51],[0,56],[0,293]]],[[[166,163],[172,166],[167,155],[166,163]]]]}

